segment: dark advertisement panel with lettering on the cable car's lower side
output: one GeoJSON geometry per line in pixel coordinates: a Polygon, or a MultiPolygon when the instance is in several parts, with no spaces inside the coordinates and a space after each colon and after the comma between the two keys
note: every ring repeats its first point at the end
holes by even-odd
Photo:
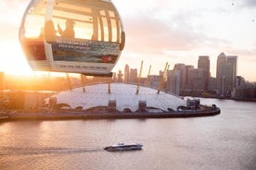
{"type": "Polygon", "coordinates": [[[120,53],[120,44],[58,38],[52,43],[52,51],[54,61],[114,64],[120,53]]]}

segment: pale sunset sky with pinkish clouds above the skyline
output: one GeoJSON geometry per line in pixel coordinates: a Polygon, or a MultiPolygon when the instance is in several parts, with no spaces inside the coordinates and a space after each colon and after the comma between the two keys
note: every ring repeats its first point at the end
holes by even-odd
{"type": "MultiPolygon", "coordinates": [[[[18,32],[30,0],[0,1],[0,70],[32,73],[21,51],[18,32]]],[[[209,55],[211,76],[217,56],[237,55],[237,76],[256,81],[256,0],[112,0],[122,17],[126,42],[113,71],[125,64],[143,76],[159,74],[168,62],[197,67],[209,55]]]]}

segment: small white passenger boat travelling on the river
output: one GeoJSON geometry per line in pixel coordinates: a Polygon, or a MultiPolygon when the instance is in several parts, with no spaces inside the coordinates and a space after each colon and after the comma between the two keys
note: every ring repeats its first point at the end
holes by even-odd
{"type": "Polygon", "coordinates": [[[119,151],[132,151],[132,150],[141,150],[143,145],[141,143],[118,143],[111,146],[107,146],[104,150],[108,152],[119,152],[119,151]]]}

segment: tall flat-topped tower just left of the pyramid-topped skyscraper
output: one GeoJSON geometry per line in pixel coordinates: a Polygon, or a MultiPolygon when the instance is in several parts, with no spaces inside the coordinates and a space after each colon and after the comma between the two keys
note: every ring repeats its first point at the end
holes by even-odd
{"type": "Polygon", "coordinates": [[[200,55],[198,57],[198,68],[203,70],[203,89],[208,90],[209,79],[210,79],[210,59],[207,55],[200,55]]]}

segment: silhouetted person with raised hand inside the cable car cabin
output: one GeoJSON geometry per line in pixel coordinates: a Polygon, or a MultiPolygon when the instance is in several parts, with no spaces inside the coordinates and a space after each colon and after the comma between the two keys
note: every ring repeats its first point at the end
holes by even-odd
{"type": "Polygon", "coordinates": [[[74,38],[75,32],[74,32],[74,24],[75,22],[68,18],[66,20],[66,28],[65,30],[62,30],[61,27],[58,24],[58,33],[64,38],[74,38]]]}

